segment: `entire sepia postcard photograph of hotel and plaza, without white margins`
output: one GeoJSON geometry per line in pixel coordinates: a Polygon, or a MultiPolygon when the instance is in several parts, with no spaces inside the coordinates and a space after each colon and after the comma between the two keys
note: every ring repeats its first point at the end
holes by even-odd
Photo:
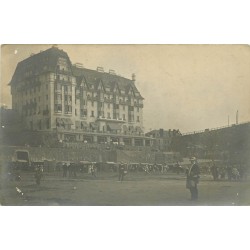
{"type": "Polygon", "coordinates": [[[2,206],[249,206],[249,45],[1,46],[2,206]]]}

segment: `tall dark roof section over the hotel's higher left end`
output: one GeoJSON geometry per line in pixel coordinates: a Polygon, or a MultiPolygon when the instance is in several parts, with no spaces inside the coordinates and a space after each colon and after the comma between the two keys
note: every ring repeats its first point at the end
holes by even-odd
{"type": "Polygon", "coordinates": [[[15,85],[20,80],[25,79],[25,73],[31,72],[32,76],[40,75],[45,72],[55,72],[58,58],[65,58],[70,66],[70,73],[72,74],[72,64],[68,54],[56,47],[52,47],[38,54],[32,55],[17,64],[14,75],[11,79],[10,85],[15,85]]]}

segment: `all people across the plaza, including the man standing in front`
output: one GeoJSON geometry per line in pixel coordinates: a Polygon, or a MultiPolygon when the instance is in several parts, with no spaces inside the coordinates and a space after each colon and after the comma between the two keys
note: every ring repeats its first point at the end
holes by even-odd
{"type": "MultiPolygon", "coordinates": [[[[244,181],[247,180],[247,171],[243,165],[235,166],[216,166],[215,162],[211,162],[211,166],[200,167],[195,157],[190,158],[191,164],[187,167],[182,167],[179,162],[168,166],[167,164],[147,164],[147,163],[114,163],[100,165],[96,162],[57,162],[54,164],[54,168],[45,167],[43,164],[37,164],[34,170],[35,183],[41,184],[41,180],[44,176],[44,170],[46,172],[61,172],[63,178],[76,179],[81,178],[85,174],[92,176],[93,178],[102,177],[102,173],[111,172],[114,173],[114,177],[117,176],[119,182],[123,182],[125,176],[128,173],[132,175],[135,173],[150,174],[184,174],[186,175],[186,188],[190,190],[191,200],[198,199],[198,184],[200,181],[200,175],[207,176],[209,173],[214,181],[228,180],[228,181],[244,181]],[[226,178],[227,177],[227,178],[226,178]]],[[[11,181],[21,181],[21,172],[15,172],[12,169],[9,176],[11,181]],[[18,173],[18,174],[17,174],[18,173]],[[15,178],[13,178],[15,177],[15,178]]]]}

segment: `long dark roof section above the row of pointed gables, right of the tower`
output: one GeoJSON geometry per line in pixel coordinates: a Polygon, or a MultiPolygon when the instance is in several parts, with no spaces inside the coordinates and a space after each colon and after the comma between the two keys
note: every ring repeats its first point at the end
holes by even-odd
{"type": "Polygon", "coordinates": [[[72,70],[74,76],[76,76],[78,85],[81,84],[81,77],[84,76],[87,84],[94,85],[95,89],[98,88],[101,81],[105,91],[109,89],[111,92],[113,92],[115,86],[117,86],[120,92],[128,94],[128,91],[132,89],[134,93],[138,93],[139,98],[143,99],[140,92],[136,88],[134,81],[130,79],[106,72],[98,72],[92,69],[77,68],[74,65],[72,66],[72,70]]]}

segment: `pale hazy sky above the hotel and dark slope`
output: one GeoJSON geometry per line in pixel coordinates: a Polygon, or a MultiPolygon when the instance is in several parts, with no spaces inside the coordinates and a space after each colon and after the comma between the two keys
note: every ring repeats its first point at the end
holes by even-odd
{"type": "MultiPolygon", "coordinates": [[[[1,51],[1,104],[19,61],[51,45],[5,45],[1,51]]],[[[247,45],[58,45],[72,63],[104,67],[131,79],[144,100],[144,127],[181,132],[250,121],[250,47],[247,45]]]]}

